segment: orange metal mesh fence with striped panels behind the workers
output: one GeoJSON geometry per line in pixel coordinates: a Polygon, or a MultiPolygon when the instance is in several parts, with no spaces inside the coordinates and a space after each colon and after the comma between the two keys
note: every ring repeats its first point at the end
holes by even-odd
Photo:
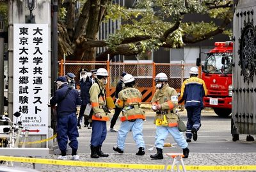
{"type": "Polygon", "coordinates": [[[112,63],[109,61],[60,61],[59,74],[64,75],[67,72],[74,73],[76,77],[76,85],[79,88],[81,68],[89,71],[95,68],[106,68],[109,72],[109,82],[107,85],[107,95],[115,97],[115,87],[120,80],[122,72],[131,74],[136,79],[136,88],[143,95],[143,102],[150,102],[155,92],[154,78],[160,72],[164,72],[168,76],[168,84],[175,88],[178,92],[182,82],[189,78],[189,69],[195,66],[195,63],[112,63]]]}

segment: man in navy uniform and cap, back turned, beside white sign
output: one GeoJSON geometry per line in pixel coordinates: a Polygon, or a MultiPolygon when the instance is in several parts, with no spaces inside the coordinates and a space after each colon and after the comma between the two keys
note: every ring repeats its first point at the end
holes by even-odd
{"type": "Polygon", "coordinates": [[[76,127],[76,106],[81,105],[81,98],[78,91],[68,86],[66,77],[58,77],[56,80],[58,90],[51,98],[51,106],[57,105],[57,140],[61,151],[58,159],[67,160],[66,150],[68,145],[72,148],[72,160],[79,160],[77,155],[78,131],[76,127]]]}

